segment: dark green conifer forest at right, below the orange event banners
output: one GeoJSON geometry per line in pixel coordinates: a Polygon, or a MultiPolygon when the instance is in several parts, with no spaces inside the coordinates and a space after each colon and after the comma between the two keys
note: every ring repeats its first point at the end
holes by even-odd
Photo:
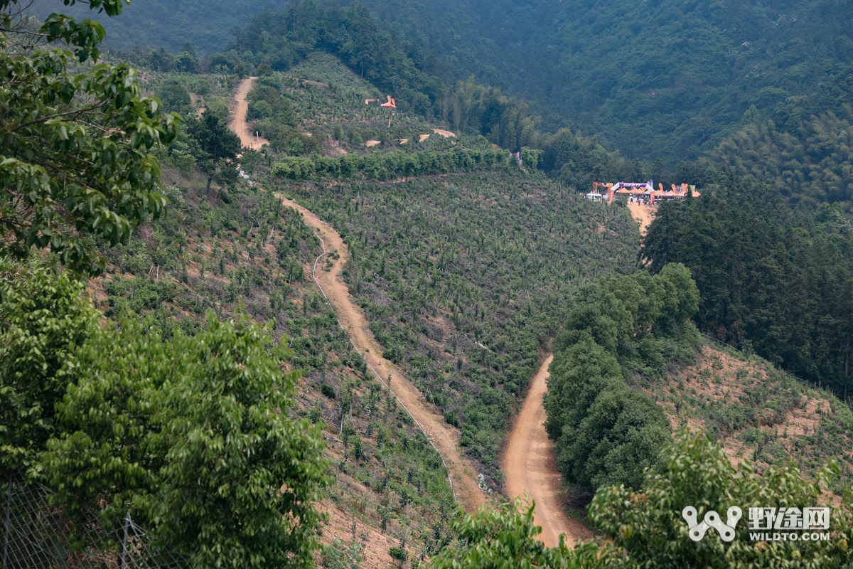
{"type": "Polygon", "coordinates": [[[660,206],[644,243],[653,272],[692,271],[699,328],[847,398],[853,226],[838,206],[792,211],[775,187],[730,177],[660,206]]]}

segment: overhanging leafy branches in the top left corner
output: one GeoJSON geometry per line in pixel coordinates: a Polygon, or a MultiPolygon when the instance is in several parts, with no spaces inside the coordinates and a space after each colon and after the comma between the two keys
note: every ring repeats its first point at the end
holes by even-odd
{"type": "MultiPolygon", "coordinates": [[[[73,72],[73,57],[97,59],[100,24],[52,15],[36,36],[67,49],[28,49],[19,36],[29,34],[10,29],[16,6],[0,5],[0,250],[26,258],[32,247],[49,247],[71,269],[96,276],[104,259],[90,235],[116,245],[163,212],[165,199],[154,191],[160,167],[150,153],[174,139],[180,121],[142,96],[131,67],[73,72]]],[[[90,8],[114,15],[122,3],[90,8]]]]}

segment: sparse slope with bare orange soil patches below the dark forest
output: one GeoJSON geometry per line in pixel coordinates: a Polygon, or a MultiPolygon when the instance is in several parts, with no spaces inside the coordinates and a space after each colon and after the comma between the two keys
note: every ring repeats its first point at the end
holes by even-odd
{"type": "Polygon", "coordinates": [[[739,359],[705,345],[693,365],[644,388],[676,431],[705,430],[733,464],[744,457],[759,471],[790,456],[804,471],[838,459],[853,470],[853,415],[845,404],[786,379],[757,357],[739,359]]]}

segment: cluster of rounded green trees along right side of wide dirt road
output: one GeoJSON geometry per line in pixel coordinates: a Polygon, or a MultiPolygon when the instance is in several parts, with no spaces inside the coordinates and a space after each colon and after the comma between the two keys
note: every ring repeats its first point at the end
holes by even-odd
{"type": "Polygon", "coordinates": [[[607,276],[579,291],[554,341],[545,400],[546,430],[568,481],[639,488],[647,468],[663,467],[669,421],[623,374],[660,374],[673,357],[692,356],[689,348],[664,356],[663,344],[689,342],[683,323],[698,300],[689,271],[674,264],[660,276],[607,276]]]}

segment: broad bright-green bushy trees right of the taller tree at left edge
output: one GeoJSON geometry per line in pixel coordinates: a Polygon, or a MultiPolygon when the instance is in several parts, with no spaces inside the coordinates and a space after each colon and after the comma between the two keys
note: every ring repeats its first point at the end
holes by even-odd
{"type": "Polygon", "coordinates": [[[328,478],[316,429],[287,417],[284,346],[242,316],[167,343],[119,323],[67,363],[64,433],[43,459],[57,499],[103,520],[130,506],[195,566],[310,566],[328,478]]]}

